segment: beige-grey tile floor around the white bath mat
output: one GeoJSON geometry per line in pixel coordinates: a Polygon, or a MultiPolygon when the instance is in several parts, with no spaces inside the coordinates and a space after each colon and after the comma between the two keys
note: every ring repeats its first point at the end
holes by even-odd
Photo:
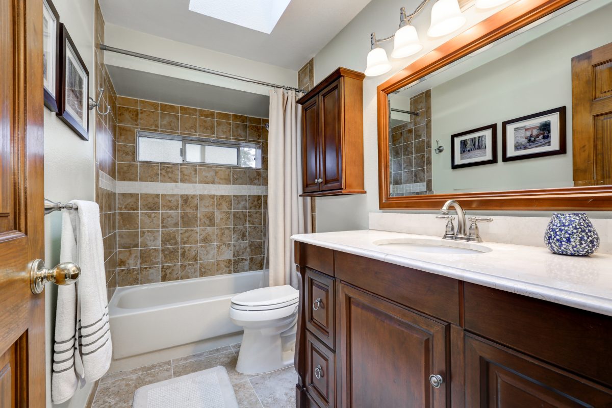
{"type": "Polygon", "coordinates": [[[297,374],[293,366],[267,374],[245,376],[236,371],[240,343],[174,358],[166,362],[102,377],[92,408],[131,408],[136,388],[215,366],[224,366],[241,408],[293,408],[297,374]]]}

